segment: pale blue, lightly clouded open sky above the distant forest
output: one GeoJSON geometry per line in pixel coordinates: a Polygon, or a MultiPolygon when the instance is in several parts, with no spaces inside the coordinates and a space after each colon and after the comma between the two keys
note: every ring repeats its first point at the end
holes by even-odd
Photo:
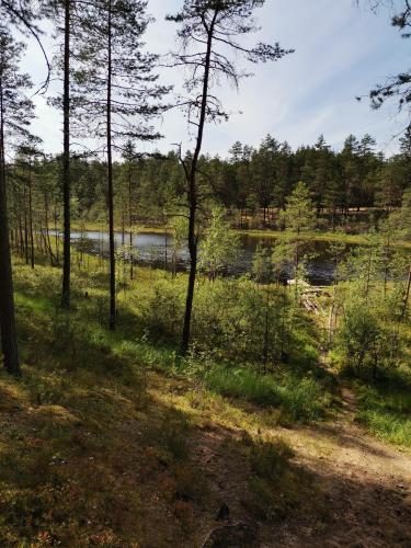
{"type": "MultiPolygon", "coordinates": [[[[167,53],[173,47],[175,27],[164,22],[164,15],[182,3],[149,0],[149,11],[157,22],[147,35],[148,49],[167,53]]],[[[224,157],[233,141],[258,145],[269,133],[288,140],[294,148],[313,144],[323,134],[339,149],[350,133],[369,133],[387,155],[395,151],[393,136],[403,127],[403,118],[393,105],[370,111],[366,99],[358,103],[355,96],[367,93],[387,76],[408,69],[411,42],[401,39],[390,26],[388,10],[373,14],[365,4],[366,0],[358,9],[355,0],[267,0],[256,12],[262,31],[255,39],[279,42],[296,52],[276,64],[253,67],[254,78],[244,80],[239,90],[227,85],[219,89],[233,115],[228,123],[207,127],[204,150],[224,157]]],[[[24,68],[36,82],[44,78],[34,44],[24,68]]],[[[167,71],[162,79],[179,90],[182,73],[167,71]]],[[[44,139],[47,151],[59,151],[60,115],[44,99],[37,98],[36,103],[34,130],[44,139]]],[[[159,126],[165,137],[156,148],[168,150],[173,142],[183,142],[185,148],[192,145],[181,113],[168,114],[159,126]]],[[[141,145],[142,150],[150,148],[141,145]]]]}

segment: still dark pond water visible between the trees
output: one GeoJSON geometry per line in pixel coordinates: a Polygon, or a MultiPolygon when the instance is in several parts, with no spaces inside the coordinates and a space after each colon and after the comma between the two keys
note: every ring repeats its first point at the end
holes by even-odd
{"type": "MultiPolygon", "coordinates": [[[[115,235],[117,246],[123,243],[122,232],[115,235]]],[[[82,249],[85,253],[109,255],[109,233],[99,231],[72,232],[71,240],[77,249],[82,249]]],[[[125,235],[125,244],[128,246],[129,237],[125,235]]],[[[231,265],[229,273],[241,275],[251,271],[252,258],[259,244],[272,247],[272,238],[260,238],[251,236],[241,236],[242,250],[239,260],[231,265]]],[[[333,281],[333,263],[328,254],[328,243],[324,241],[313,242],[315,259],[308,261],[307,273],[308,281],[312,285],[330,285],[333,281]]],[[[139,232],[133,237],[133,248],[135,261],[137,264],[150,264],[156,267],[164,267],[165,263],[171,262],[172,237],[159,232],[139,232]]],[[[347,251],[350,246],[347,246],[347,251]]],[[[189,251],[181,248],[176,253],[176,263],[179,270],[184,270],[189,263],[189,251]]],[[[292,277],[292,271],[285,270],[284,278],[292,277]]]]}

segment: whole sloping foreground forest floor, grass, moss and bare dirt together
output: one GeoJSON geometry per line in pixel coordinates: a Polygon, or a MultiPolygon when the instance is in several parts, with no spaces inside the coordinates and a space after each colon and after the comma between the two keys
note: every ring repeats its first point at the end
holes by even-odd
{"type": "Polygon", "coordinates": [[[59,272],[16,266],[24,366],[0,372],[1,547],[411,546],[411,449],[359,424],[347,381],[321,421],[285,426],[160,364],[125,309],[107,333],[93,320],[105,289],[98,276],[84,298],[87,281],[68,321],[50,297],[59,272]]]}

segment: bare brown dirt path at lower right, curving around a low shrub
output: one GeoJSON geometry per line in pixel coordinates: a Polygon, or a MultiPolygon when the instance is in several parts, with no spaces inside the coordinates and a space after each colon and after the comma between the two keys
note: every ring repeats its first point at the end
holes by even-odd
{"type": "MultiPolygon", "coordinates": [[[[213,509],[226,503],[231,523],[256,523],[260,532],[255,545],[210,546],[411,547],[411,453],[366,434],[354,422],[355,396],[349,389],[342,396],[343,409],[331,422],[271,431],[294,447],[294,463],[312,476],[315,487],[302,509],[279,524],[256,523],[248,514],[247,464],[224,449],[224,437],[232,432],[216,430],[198,436],[194,456],[214,486],[213,509]]],[[[209,510],[208,520],[205,514],[203,520],[197,516],[203,521],[198,540],[218,526],[209,522],[209,510]]]]}

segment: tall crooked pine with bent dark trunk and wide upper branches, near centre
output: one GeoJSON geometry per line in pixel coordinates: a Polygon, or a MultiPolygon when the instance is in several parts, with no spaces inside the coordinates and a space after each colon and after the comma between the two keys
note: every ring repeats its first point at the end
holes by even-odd
{"type": "Polygon", "coordinates": [[[185,304],[182,352],[186,353],[191,339],[191,318],[198,259],[198,235],[196,233],[198,187],[197,170],[207,121],[227,119],[218,98],[212,93],[214,82],[227,78],[238,85],[241,77],[249,76],[238,69],[238,61],[230,60],[229,52],[242,54],[251,62],[274,61],[284,57],[287,50],[267,44],[247,47],[237,39],[255,32],[253,13],[264,0],[185,0],[175,15],[167,19],[178,23],[178,38],[181,48],[173,56],[174,67],[184,67],[190,75],[185,81],[189,96],[183,104],[189,123],[196,127],[195,148],[190,159],[181,161],[186,179],[189,207],[190,274],[185,304]]]}

